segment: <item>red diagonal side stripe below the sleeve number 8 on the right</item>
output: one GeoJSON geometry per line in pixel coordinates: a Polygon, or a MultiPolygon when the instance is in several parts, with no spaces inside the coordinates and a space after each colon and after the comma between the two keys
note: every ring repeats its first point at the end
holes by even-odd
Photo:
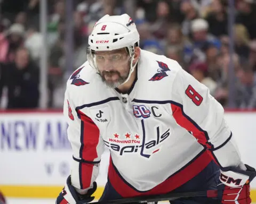
{"type": "MultiPolygon", "coordinates": [[[[183,114],[183,111],[180,106],[171,104],[172,108],[172,115],[175,119],[175,121],[182,126],[182,128],[185,128],[187,131],[191,131],[194,135],[194,137],[198,140],[199,143],[206,146],[207,148],[211,149],[211,145],[207,142],[207,133],[203,130],[200,130],[196,125],[195,122],[185,114],[183,114]]],[[[200,114],[200,113],[198,113],[200,114]]]]}

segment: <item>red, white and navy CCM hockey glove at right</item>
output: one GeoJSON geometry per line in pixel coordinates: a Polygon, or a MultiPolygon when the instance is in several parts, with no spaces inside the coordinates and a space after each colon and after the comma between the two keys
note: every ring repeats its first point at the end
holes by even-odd
{"type": "Polygon", "coordinates": [[[256,176],[255,169],[246,165],[246,171],[235,167],[228,171],[220,171],[220,183],[218,185],[218,197],[225,204],[249,204],[250,182],[256,176]]]}

